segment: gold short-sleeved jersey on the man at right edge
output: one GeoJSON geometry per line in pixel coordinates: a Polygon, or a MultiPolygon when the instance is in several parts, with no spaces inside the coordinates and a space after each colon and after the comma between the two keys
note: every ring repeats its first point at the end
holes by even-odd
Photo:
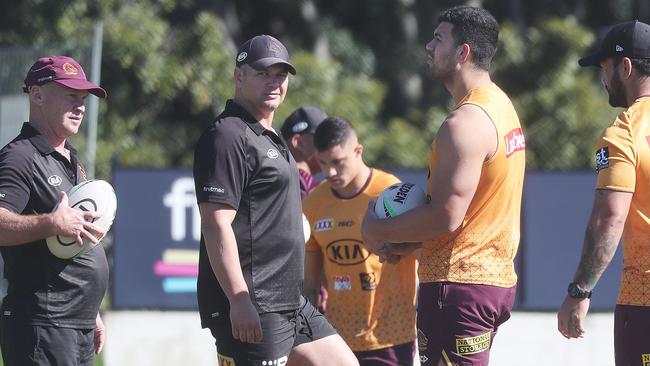
{"type": "Polygon", "coordinates": [[[598,189],[631,192],[618,303],[650,306],[650,97],[637,99],[596,147],[598,189]]]}

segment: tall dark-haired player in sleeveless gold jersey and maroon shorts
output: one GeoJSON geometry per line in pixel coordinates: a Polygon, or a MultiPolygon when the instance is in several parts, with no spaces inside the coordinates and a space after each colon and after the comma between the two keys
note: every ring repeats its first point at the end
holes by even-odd
{"type": "Polygon", "coordinates": [[[380,240],[422,242],[423,365],[487,365],[515,301],[525,140],[510,99],[490,78],[498,34],[484,9],[459,6],[440,14],[427,63],[456,107],[432,144],[431,201],[390,220],[378,220],[369,207],[364,220],[364,241],[382,255],[412,246],[380,247],[380,240]]]}

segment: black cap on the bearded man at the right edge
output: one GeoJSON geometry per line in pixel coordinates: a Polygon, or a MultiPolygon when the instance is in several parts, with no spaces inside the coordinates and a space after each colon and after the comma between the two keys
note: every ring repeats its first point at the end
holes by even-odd
{"type": "Polygon", "coordinates": [[[596,53],[581,58],[580,66],[599,66],[608,57],[650,58],[650,25],[638,20],[612,27],[596,53]]]}

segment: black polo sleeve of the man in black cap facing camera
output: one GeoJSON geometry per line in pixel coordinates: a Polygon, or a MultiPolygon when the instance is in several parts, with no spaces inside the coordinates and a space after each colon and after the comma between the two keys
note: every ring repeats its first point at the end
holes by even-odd
{"type": "Polygon", "coordinates": [[[194,152],[196,197],[238,209],[248,180],[245,131],[234,121],[220,122],[201,136],[194,152]]]}

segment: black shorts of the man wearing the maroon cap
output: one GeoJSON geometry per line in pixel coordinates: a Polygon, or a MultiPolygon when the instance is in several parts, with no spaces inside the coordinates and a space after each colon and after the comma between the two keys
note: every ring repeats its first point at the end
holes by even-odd
{"type": "Polygon", "coordinates": [[[31,325],[29,321],[0,318],[0,347],[5,366],[92,366],[93,329],[31,325]]]}

